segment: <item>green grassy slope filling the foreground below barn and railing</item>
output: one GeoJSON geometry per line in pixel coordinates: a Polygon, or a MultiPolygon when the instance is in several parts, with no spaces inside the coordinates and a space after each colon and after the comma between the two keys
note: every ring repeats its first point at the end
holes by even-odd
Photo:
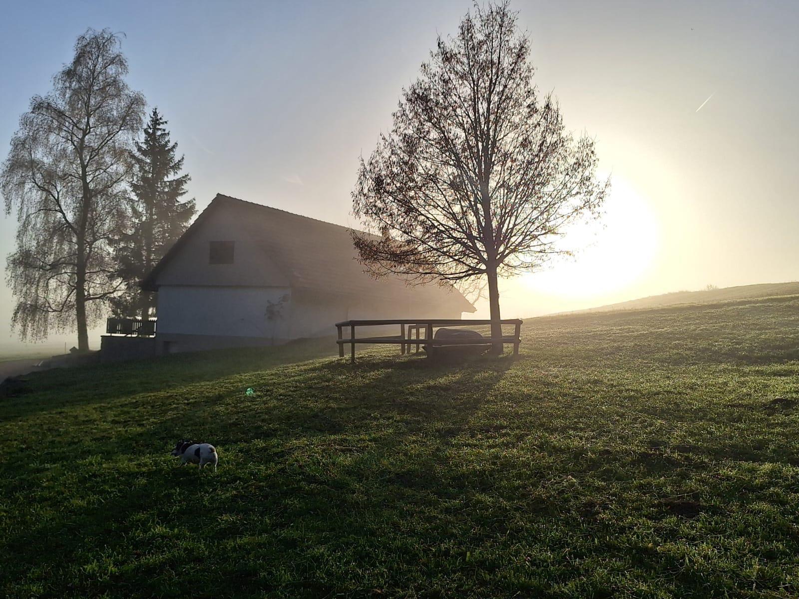
{"type": "Polygon", "coordinates": [[[0,404],[0,595],[797,597],[799,296],[523,336],[33,375],[0,404]]]}

